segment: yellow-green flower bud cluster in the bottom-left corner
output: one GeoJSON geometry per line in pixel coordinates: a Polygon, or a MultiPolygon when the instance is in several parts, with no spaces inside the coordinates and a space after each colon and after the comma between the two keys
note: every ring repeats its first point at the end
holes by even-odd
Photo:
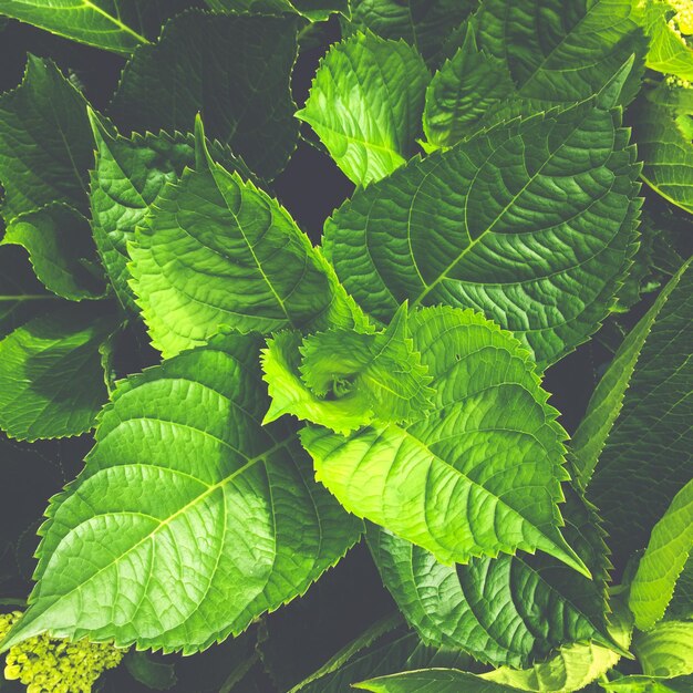
{"type": "MultiPolygon", "coordinates": [[[[20,611],[0,614],[0,640],[20,617],[20,611]]],[[[9,651],[4,678],[23,683],[27,693],[91,693],[99,676],[117,666],[123,654],[108,644],[39,635],[9,651]]]]}

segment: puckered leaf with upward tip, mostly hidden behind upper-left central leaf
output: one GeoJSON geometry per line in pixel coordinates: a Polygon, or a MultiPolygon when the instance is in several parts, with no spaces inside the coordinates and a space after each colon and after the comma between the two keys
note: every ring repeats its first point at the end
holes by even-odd
{"type": "MultiPolygon", "coordinates": [[[[96,161],[91,172],[91,210],[94,240],[121,303],[137,311],[127,283],[127,241],[167,183],[180,178],[195,165],[192,134],[161,132],[123,137],[107,121],[90,110],[96,142],[96,161]]],[[[192,124],[192,122],[190,122],[192,124]]],[[[245,164],[219,143],[209,143],[211,154],[229,170],[251,177],[245,164]]]]}

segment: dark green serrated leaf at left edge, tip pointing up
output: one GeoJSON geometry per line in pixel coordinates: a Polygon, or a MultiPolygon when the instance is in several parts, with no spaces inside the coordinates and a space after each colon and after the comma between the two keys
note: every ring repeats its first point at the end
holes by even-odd
{"type": "Polygon", "coordinates": [[[53,201],[83,211],[92,162],[84,97],[54,63],[30,54],[20,86],[0,96],[6,221],[53,201]]]}

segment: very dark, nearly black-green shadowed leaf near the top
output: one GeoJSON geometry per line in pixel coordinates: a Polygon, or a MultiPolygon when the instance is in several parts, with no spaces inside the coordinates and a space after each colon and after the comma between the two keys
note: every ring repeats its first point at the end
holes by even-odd
{"type": "Polygon", "coordinates": [[[289,81],[298,20],[190,11],[138,48],[111,106],[118,126],[189,131],[201,112],[210,138],[261,177],[287,164],[298,137],[289,81]]]}

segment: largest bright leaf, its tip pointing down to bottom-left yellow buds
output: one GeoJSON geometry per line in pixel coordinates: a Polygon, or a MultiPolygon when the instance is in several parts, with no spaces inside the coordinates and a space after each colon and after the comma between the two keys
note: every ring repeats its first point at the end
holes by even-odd
{"type": "Polygon", "coordinates": [[[2,649],[50,631],[195,652],[304,592],[358,540],[296,431],[260,424],[259,345],[221,334],[118,383],[84,472],[49,508],[39,582],[2,649]]]}

